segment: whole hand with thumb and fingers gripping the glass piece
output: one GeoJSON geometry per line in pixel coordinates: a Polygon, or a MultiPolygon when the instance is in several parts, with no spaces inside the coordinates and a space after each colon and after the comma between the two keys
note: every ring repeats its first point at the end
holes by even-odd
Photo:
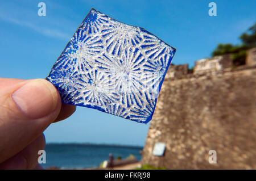
{"type": "Polygon", "coordinates": [[[43,131],[75,110],[45,79],[0,78],[0,169],[42,169],[43,131]]]}

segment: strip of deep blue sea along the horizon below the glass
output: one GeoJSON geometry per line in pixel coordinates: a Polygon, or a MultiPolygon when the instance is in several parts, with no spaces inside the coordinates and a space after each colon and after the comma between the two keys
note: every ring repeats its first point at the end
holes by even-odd
{"type": "Polygon", "coordinates": [[[109,159],[112,153],[114,159],[122,159],[134,155],[141,160],[141,146],[104,145],[104,144],[47,144],[46,163],[44,169],[57,167],[59,169],[82,169],[98,167],[109,159]]]}

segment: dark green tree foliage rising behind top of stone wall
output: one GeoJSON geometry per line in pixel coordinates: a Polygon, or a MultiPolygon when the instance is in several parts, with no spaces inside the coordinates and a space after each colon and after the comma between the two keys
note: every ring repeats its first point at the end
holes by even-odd
{"type": "Polygon", "coordinates": [[[232,54],[233,65],[244,65],[246,50],[256,47],[256,23],[250,27],[249,30],[242,33],[240,36],[242,44],[218,44],[217,48],[213,50],[212,56],[220,56],[222,54],[232,54]]]}

